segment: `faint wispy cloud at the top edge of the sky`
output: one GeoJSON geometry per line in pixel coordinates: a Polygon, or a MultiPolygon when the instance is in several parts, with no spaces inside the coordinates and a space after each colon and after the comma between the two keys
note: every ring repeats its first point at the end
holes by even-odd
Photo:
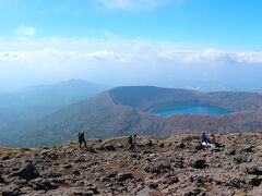
{"type": "Polygon", "coordinates": [[[170,0],[95,0],[107,9],[145,10],[166,4],[170,0]]]}

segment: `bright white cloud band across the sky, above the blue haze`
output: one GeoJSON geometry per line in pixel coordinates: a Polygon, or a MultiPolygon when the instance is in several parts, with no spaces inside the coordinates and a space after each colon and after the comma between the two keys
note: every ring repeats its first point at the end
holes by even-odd
{"type": "Polygon", "coordinates": [[[262,64],[262,51],[231,51],[215,48],[190,48],[172,42],[123,39],[0,39],[0,61],[41,59],[86,59],[132,62],[170,61],[182,64],[262,64]],[[13,50],[13,51],[12,51],[13,50]]]}

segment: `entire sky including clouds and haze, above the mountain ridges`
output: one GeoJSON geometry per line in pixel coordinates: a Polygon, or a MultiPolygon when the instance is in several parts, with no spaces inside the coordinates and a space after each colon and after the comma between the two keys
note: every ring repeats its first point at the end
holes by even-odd
{"type": "Polygon", "coordinates": [[[0,91],[72,77],[262,91],[261,9],[261,0],[0,0],[0,91]]]}

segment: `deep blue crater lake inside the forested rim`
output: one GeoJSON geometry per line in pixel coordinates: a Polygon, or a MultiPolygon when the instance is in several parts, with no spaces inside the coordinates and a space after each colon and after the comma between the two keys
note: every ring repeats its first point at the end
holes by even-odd
{"type": "Polygon", "coordinates": [[[210,105],[200,105],[192,102],[180,102],[180,103],[168,103],[162,105],[150,110],[151,113],[158,115],[171,115],[175,113],[205,113],[205,114],[227,114],[230,113],[229,110],[210,106],[210,105]]]}

